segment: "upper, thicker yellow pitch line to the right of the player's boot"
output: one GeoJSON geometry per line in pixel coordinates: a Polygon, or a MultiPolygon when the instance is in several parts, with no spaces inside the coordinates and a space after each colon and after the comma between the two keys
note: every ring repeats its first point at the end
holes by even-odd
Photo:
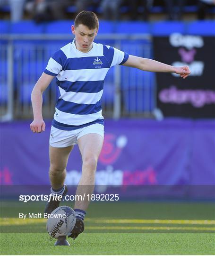
{"type": "Polygon", "coordinates": [[[208,219],[86,219],[95,223],[138,223],[138,224],[195,224],[213,225],[215,220],[208,219]]]}

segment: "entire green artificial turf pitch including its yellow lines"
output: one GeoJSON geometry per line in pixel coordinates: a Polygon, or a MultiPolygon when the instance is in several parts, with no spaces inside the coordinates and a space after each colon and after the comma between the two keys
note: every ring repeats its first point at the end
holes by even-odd
{"type": "Polygon", "coordinates": [[[1,202],[1,255],[215,255],[211,202],[92,203],[71,247],[54,247],[46,219],[18,218],[42,210],[41,203],[1,202]]]}

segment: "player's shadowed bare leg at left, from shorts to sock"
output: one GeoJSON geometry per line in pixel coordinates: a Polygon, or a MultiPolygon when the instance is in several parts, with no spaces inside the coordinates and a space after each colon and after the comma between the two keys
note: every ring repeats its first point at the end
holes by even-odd
{"type": "Polygon", "coordinates": [[[74,146],[67,147],[49,147],[50,169],[49,178],[54,190],[63,186],[66,177],[66,166],[69,154],[74,146]]]}

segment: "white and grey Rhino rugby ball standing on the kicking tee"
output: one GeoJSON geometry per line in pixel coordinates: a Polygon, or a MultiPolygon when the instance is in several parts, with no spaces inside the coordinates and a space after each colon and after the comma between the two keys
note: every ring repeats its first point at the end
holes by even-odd
{"type": "Polygon", "coordinates": [[[75,211],[69,206],[60,206],[48,215],[46,229],[52,238],[68,236],[76,224],[75,211]]]}

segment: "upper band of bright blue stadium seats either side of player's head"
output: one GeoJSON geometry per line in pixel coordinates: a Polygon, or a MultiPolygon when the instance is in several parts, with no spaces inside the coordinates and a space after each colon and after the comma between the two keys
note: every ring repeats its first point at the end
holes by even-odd
{"type": "MultiPolygon", "coordinates": [[[[0,20],[1,34],[68,34],[71,31],[72,20],[61,20],[36,24],[34,21],[20,21],[11,23],[9,20],[0,20]]],[[[215,35],[215,21],[100,21],[100,34],[151,34],[152,36],[167,36],[170,33],[215,35]]]]}

